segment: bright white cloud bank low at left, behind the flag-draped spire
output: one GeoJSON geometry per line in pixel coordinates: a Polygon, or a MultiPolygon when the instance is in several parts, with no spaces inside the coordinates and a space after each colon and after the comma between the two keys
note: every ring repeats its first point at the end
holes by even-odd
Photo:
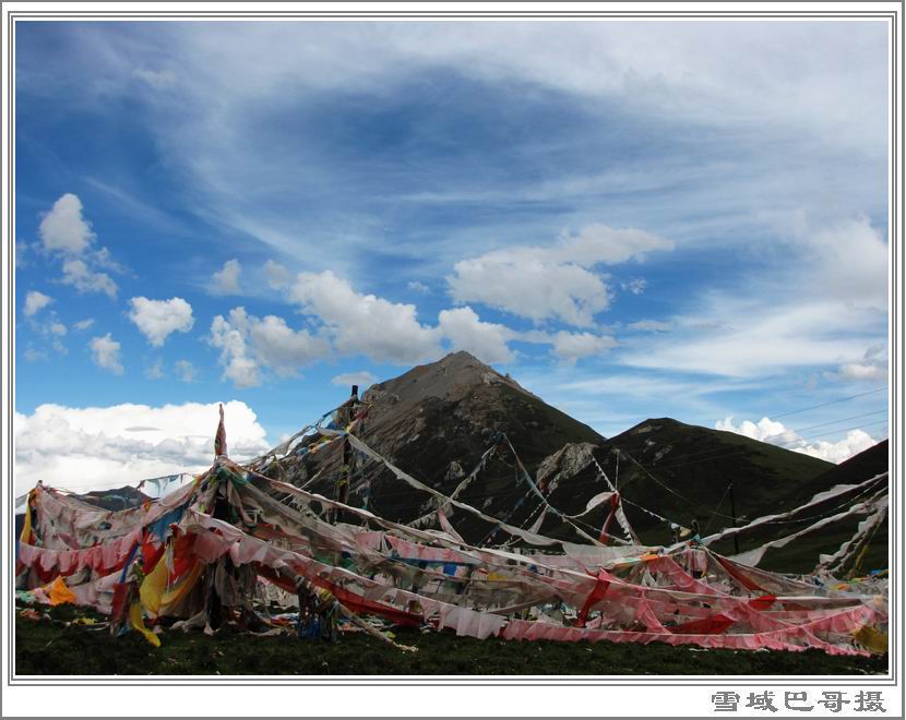
{"type": "MultiPolygon", "coordinates": [[[[245,403],[224,405],[229,455],[247,460],[269,445],[245,403]]],[[[15,492],[38,480],[75,491],[136,484],[145,478],[199,472],[214,459],[217,405],[69,408],[41,405],[16,412],[15,492]]]]}

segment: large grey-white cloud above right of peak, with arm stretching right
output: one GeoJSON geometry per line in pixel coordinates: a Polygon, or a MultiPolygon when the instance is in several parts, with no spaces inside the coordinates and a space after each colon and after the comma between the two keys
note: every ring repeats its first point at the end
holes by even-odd
{"type": "Polygon", "coordinates": [[[642,230],[593,224],[579,235],[561,233],[550,247],[512,247],[462,260],[446,280],[457,302],[583,327],[610,304],[611,290],[594,271],[597,265],[641,262],[648,252],[672,248],[672,241],[642,230]]]}

